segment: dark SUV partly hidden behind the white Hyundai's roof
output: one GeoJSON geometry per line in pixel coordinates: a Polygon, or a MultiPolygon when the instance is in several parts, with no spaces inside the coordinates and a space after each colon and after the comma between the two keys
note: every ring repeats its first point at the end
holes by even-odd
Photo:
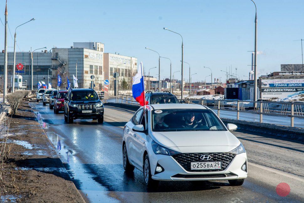
{"type": "Polygon", "coordinates": [[[151,92],[146,91],[145,93],[146,101],[149,102],[149,104],[179,104],[180,102],[176,98],[175,95],[171,94],[170,91],[164,91],[164,92],[151,92]]]}

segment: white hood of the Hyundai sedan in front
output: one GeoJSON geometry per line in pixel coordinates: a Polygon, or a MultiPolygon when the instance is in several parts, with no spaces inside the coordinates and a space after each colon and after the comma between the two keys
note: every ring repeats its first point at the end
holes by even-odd
{"type": "MultiPolygon", "coordinates": [[[[240,141],[229,131],[153,132],[152,139],[164,147],[233,146],[240,141]]],[[[230,148],[230,147],[229,147],[230,148]]]]}

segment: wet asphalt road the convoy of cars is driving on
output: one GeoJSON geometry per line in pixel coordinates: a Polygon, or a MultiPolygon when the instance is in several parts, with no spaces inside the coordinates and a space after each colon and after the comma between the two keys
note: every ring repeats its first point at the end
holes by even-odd
{"type": "Polygon", "coordinates": [[[93,120],[64,121],[42,102],[31,102],[41,126],[57,149],[76,187],[90,202],[304,202],[304,144],[275,137],[233,132],[243,143],[249,160],[248,178],[242,186],[228,181],[162,181],[147,190],[143,174],[124,173],[122,132],[134,112],[105,107],[104,123],[93,120]],[[280,183],[290,186],[281,197],[280,183]]]}

